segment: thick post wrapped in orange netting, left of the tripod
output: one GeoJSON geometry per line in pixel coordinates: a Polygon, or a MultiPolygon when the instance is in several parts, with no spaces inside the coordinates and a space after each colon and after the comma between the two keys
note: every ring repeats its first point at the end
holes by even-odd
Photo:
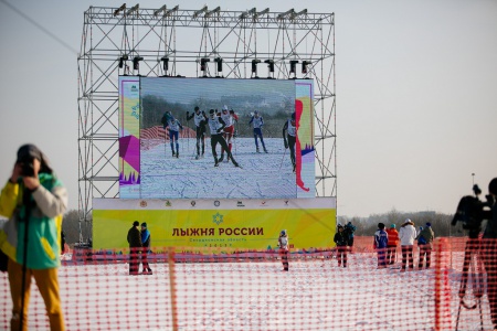
{"type": "Polygon", "coordinates": [[[435,330],[452,330],[447,238],[435,239],[435,330]]]}

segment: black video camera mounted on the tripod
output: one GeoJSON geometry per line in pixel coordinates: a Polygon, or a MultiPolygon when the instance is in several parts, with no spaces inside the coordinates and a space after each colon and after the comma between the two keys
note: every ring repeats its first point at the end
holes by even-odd
{"type": "Polygon", "coordinates": [[[485,195],[486,201],[480,201],[478,195],[482,194],[482,190],[477,184],[473,185],[473,192],[475,195],[466,195],[461,199],[451,224],[455,226],[457,222],[461,222],[463,228],[468,231],[469,238],[477,238],[482,231],[482,223],[488,215],[485,209],[491,207],[494,199],[488,194],[485,195]]]}

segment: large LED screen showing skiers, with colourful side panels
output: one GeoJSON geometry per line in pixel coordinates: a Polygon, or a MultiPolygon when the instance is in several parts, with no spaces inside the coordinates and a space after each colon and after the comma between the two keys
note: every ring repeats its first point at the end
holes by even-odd
{"type": "Polygon", "coordinates": [[[314,197],[313,95],[310,79],[120,77],[119,196],[314,197]]]}

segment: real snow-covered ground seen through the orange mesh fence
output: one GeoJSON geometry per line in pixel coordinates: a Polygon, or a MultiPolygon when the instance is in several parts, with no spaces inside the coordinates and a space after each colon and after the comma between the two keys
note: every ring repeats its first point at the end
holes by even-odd
{"type": "MultiPolygon", "coordinates": [[[[434,269],[377,269],[374,254],[351,254],[347,268],[334,258],[239,259],[173,265],[178,330],[435,330],[434,269]]],[[[459,307],[462,254],[448,269],[451,324],[459,307]]],[[[67,330],[172,330],[170,273],[128,276],[128,265],[67,265],[60,268],[67,330]]],[[[8,329],[11,302],[0,274],[0,330],[8,329]]],[[[32,291],[30,330],[49,330],[44,305],[32,291]]],[[[470,297],[470,289],[468,290],[470,297]]],[[[491,330],[486,295],[483,329],[491,330]]],[[[482,330],[479,309],[461,310],[458,330],[482,330]]]]}

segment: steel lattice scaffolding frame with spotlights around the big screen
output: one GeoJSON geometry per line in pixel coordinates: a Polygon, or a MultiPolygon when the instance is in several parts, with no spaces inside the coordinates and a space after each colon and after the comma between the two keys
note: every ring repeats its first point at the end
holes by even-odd
{"type": "Polygon", "coordinates": [[[334,13],[91,7],[84,13],[77,68],[84,226],[93,197],[119,195],[119,75],[313,78],[316,196],[337,196],[334,13]]]}

